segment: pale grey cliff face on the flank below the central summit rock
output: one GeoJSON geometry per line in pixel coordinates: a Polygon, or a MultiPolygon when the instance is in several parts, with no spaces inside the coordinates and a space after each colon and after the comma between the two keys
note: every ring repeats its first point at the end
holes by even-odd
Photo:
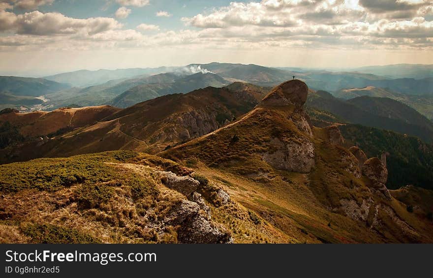
{"type": "Polygon", "coordinates": [[[314,166],[314,144],[305,137],[280,140],[272,138],[269,152],[262,158],[278,170],[309,173],[314,166]]]}

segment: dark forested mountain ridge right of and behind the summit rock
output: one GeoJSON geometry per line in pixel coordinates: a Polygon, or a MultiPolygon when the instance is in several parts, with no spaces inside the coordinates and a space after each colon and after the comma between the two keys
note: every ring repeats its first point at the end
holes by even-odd
{"type": "Polygon", "coordinates": [[[344,101],[324,91],[309,94],[308,107],[328,111],[344,122],[394,130],[432,142],[433,124],[416,110],[390,98],[362,96],[344,101]]]}

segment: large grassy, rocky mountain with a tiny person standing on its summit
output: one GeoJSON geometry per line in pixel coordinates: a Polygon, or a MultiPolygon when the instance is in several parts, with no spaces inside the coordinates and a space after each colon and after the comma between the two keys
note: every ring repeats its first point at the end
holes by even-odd
{"type": "Polygon", "coordinates": [[[243,118],[160,155],[225,185],[233,200],[300,242],[430,241],[431,223],[392,197],[380,159],[339,146],[335,126],[309,125],[307,92],[298,80],[283,83],[243,118]]]}

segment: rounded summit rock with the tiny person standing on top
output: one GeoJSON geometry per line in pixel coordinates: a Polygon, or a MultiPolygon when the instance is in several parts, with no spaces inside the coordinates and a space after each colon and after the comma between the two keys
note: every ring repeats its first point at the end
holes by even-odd
{"type": "Polygon", "coordinates": [[[301,80],[290,80],[281,83],[262,100],[262,105],[285,106],[289,104],[301,108],[307,101],[308,86],[301,80]]]}

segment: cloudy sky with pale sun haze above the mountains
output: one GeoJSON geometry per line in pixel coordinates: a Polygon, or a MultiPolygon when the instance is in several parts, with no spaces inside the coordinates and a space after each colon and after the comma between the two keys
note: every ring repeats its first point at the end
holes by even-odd
{"type": "Polygon", "coordinates": [[[433,64],[433,0],[0,0],[0,75],[433,64]]]}

